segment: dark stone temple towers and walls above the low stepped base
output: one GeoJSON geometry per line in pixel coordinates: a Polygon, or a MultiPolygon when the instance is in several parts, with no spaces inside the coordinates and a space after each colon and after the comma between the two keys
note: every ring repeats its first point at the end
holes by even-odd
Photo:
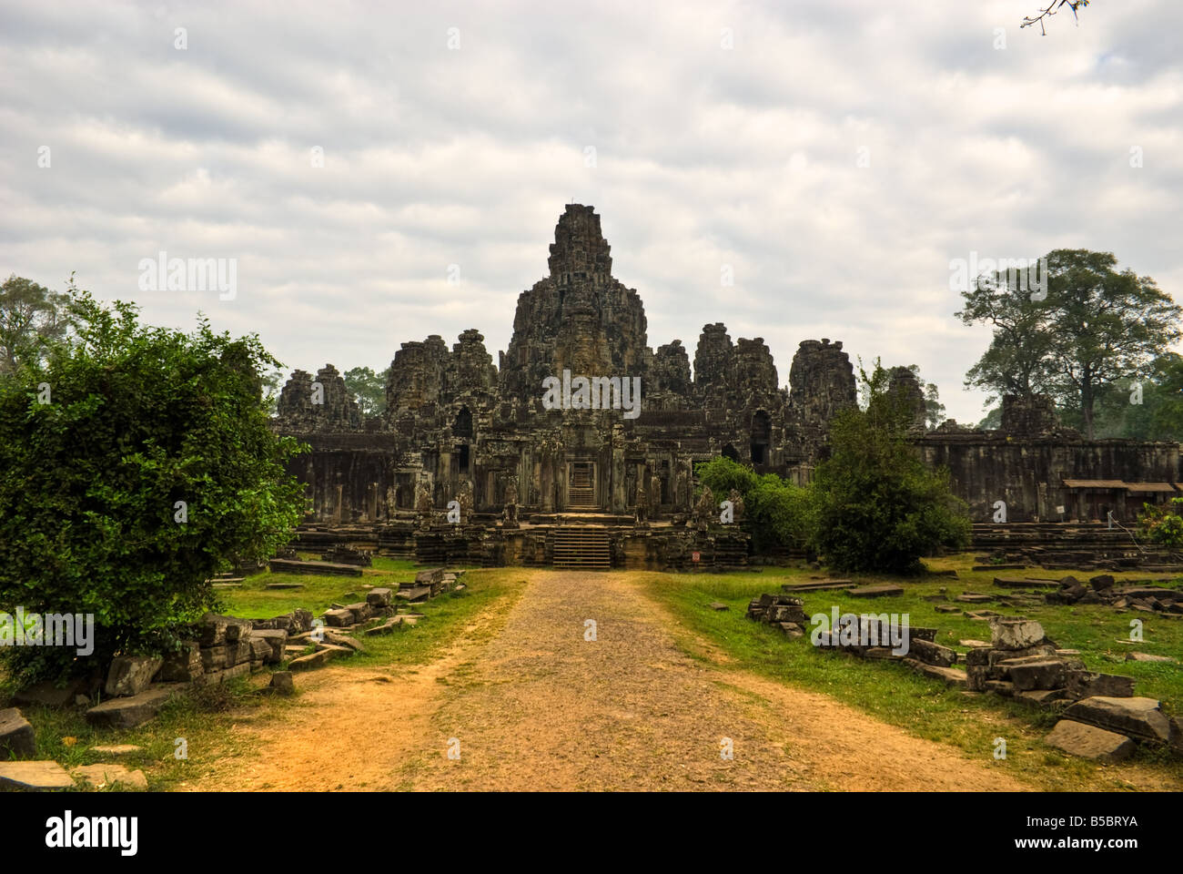
{"type": "MultiPolygon", "coordinates": [[[[518,297],[499,368],[476,328],[451,349],[439,335],[405,342],[392,361],[387,413],[366,420],[332,365],[315,380],[296,371],[274,426],[311,444],[310,455],[292,462],[308,484],[308,520],[409,519],[420,490],[439,512],[471,491],[477,513],[500,514],[516,491],[523,519],[574,509],[678,518],[691,512],[693,465],[720,455],[808,482],[827,455],[830,420],[856,404],[842,343],[802,341],[786,390],[761,338],[732,342],[716,322],[703,327],[691,373],[679,340],[648,347],[641,298],[612,268],[600,217],[569,204],[555,227],[548,275],[518,297]],[[640,414],[543,409],[543,380],[563,369],[640,378],[640,414]],[[323,404],[312,403],[313,383],[323,404]],[[573,490],[582,477],[590,506],[586,491],[573,490]]],[[[978,521],[991,519],[998,500],[1014,521],[1058,519],[1054,508],[1073,497],[1065,478],[1179,480],[1176,444],[1084,441],[1055,422],[1046,399],[1004,399],[1001,431],[950,422],[926,432],[914,375],[899,368],[893,385],[914,406],[917,451],[951,470],[978,521]]],[[[1082,512],[1103,509],[1093,505],[1082,512]]]]}

